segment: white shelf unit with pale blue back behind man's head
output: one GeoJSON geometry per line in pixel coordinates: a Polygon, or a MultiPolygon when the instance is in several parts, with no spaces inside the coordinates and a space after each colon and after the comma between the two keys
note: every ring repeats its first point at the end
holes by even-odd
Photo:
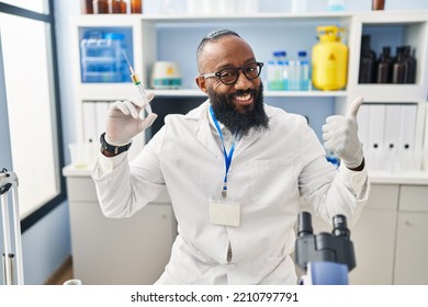
{"type": "MultiPolygon", "coordinates": [[[[331,114],[346,114],[349,104],[359,95],[364,98],[365,103],[417,104],[415,144],[417,150],[423,150],[424,148],[428,93],[428,12],[426,11],[259,13],[204,16],[102,14],[72,16],[70,24],[74,39],[72,46],[75,46],[72,60],[75,62],[74,80],[77,93],[76,112],[79,140],[83,140],[82,102],[123,100],[136,93],[131,82],[82,83],[80,81],[78,46],[81,29],[103,26],[131,27],[133,33],[134,68],[139,73],[147,89],[149,89],[151,67],[157,60],[177,61],[181,66],[182,89],[154,90],[154,92],[160,101],[179,99],[181,103],[183,100],[200,101],[205,96],[196,88],[194,77],[198,76],[195,49],[200,39],[207,32],[219,27],[233,29],[249,42],[258,60],[267,61],[270,59],[272,50],[278,48],[284,48],[291,56],[297,52],[296,48],[306,49],[311,57],[312,47],[317,43],[316,26],[334,24],[346,29],[342,34],[342,42],[349,47],[346,89],[340,91],[266,90],[264,98],[269,101],[278,102],[277,105],[281,105],[282,101],[292,100],[295,105],[299,105],[301,100],[309,100],[316,103],[318,100],[325,101],[327,99],[333,104],[333,110],[327,111],[331,114]],[[361,35],[364,33],[373,35],[372,42],[376,42],[379,46],[381,44],[393,46],[408,44],[414,46],[417,58],[416,83],[359,84],[361,35]]],[[[379,53],[380,50],[376,52],[379,53]]],[[[264,73],[266,70],[262,71],[262,80],[266,79],[264,73]]],[[[306,112],[306,110],[303,112],[306,112]]],[[[316,111],[307,110],[307,112],[316,111]]],[[[311,113],[312,118],[324,115],[326,114],[311,113]]],[[[324,118],[318,120],[318,123],[324,121],[324,118]]],[[[139,143],[142,143],[140,139],[139,143]]]]}

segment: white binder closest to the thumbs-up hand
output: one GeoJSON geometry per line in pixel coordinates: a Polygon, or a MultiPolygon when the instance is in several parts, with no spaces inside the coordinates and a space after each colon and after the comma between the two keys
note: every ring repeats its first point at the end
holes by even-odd
{"type": "Polygon", "coordinates": [[[385,104],[370,104],[369,114],[369,148],[367,162],[372,170],[384,170],[382,154],[384,151],[385,104]]]}

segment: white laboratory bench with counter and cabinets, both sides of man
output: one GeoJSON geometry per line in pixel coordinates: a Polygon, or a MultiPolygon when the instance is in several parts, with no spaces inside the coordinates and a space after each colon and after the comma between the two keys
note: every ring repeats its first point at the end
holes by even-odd
{"type": "MultiPolygon", "coordinates": [[[[102,215],[88,169],[64,168],[75,276],[83,284],[153,284],[168,263],[177,221],[167,193],[129,218],[102,215]]],[[[369,173],[369,202],[351,231],[350,284],[428,284],[428,172],[369,173]]],[[[302,211],[309,211],[302,205],[302,211]]],[[[314,234],[331,231],[313,216],[314,234]]]]}

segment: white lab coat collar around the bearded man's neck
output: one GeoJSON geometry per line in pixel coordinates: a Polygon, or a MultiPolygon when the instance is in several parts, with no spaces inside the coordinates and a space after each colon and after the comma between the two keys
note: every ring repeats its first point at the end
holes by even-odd
{"type": "MultiPolygon", "coordinates": [[[[209,106],[210,106],[210,100],[206,100],[200,106],[190,111],[185,115],[185,118],[198,121],[198,125],[194,132],[196,139],[207,150],[210,150],[216,158],[223,160],[224,159],[223,151],[218,147],[214,138],[213,132],[211,129],[209,106]]],[[[264,110],[267,112],[268,117],[270,118],[272,116],[271,109],[267,104],[264,104],[264,110]]],[[[260,132],[260,130],[251,129],[246,137],[243,137],[239,140],[239,144],[235,149],[234,157],[235,158],[238,157],[239,154],[241,154],[246,148],[248,148],[252,143],[255,143],[262,134],[263,134],[262,130],[260,132]]]]}

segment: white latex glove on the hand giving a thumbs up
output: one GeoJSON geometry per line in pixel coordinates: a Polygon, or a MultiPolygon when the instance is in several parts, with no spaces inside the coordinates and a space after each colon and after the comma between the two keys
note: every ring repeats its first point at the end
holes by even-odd
{"type": "Polygon", "coordinates": [[[361,166],[364,158],[360,139],[358,138],[357,114],[363,99],[352,101],[346,116],[327,117],[323,126],[324,147],[338,156],[345,166],[354,169],[361,166]]]}

